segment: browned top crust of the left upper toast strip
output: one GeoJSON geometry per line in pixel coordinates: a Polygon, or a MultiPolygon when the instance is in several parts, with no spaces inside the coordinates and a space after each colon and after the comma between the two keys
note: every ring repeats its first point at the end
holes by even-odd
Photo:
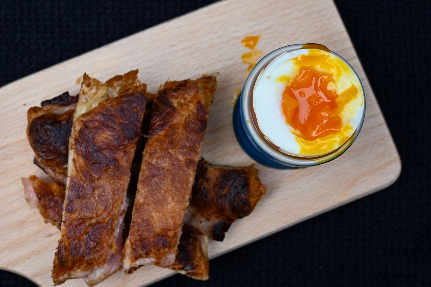
{"type": "Polygon", "coordinates": [[[129,91],[74,121],[73,164],[52,271],[55,284],[86,276],[118,250],[115,229],[145,104],[144,91],[129,91]]]}

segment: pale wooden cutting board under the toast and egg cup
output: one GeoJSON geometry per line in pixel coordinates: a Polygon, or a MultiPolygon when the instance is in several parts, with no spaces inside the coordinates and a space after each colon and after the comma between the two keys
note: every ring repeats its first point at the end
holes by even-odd
{"type": "MultiPolygon", "coordinates": [[[[139,68],[139,78],[156,91],[168,79],[183,80],[219,72],[209,113],[202,156],[214,164],[253,163],[242,151],[232,128],[232,97],[244,84],[248,52],[240,41],[260,35],[256,49],[264,54],[281,46],[322,43],[355,68],[366,96],[365,123],[350,149],[330,163],[295,170],[259,164],[268,187],[254,212],[235,222],[225,241],[209,245],[219,256],[297,222],[378,191],[393,183],[401,162],[343,22],[331,0],[232,0],[190,14],[60,63],[0,89],[0,267],[22,274],[41,286],[52,286],[51,268],[59,231],[45,224],[24,200],[22,176],[46,178],[33,164],[25,134],[27,110],[68,90],[78,93],[87,72],[100,80],[139,68]]],[[[367,59],[362,59],[367,61],[367,59]]],[[[249,264],[245,262],[245,264],[249,264]]],[[[174,274],[144,266],[131,275],[117,272],[100,285],[141,286],[174,274]]],[[[211,280],[211,279],[210,279],[211,280]]],[[[62,286],[86,286],[82,279],[62,286]]]]}

